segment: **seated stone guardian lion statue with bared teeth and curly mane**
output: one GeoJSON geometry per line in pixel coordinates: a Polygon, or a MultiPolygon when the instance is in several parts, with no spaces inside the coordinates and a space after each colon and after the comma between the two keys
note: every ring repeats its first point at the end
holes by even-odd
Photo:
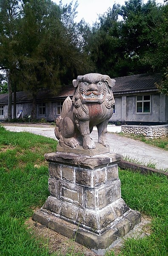
{"type": "Polygon", "coordinates": [[[108,121],[113,115],[115,80],[107,75],[86,74],[73,80],[72,100],[67,97],[60,117],[56,119],[55,135],[62,147],[76,147],[81,138],[84,149],[94,149],[90,138],[94,126],[98,130],[98,142],[108,147],[105,138],[108,121]]]}

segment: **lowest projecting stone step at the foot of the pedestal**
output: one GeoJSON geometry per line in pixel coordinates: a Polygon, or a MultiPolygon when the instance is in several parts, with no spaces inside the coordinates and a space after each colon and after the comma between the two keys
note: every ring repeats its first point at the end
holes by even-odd
{"type": "Polygon", "coordinates": [[[128,215],[123,216],[108,230],[101,235],[95,234],[85,230],[84,228],[77,227],[68,221],[57,218],[50,214],[50,212],[42,212],[40,209],[34,212],[34,221],[45,225],[51,230],[54,230],[61,235],[64,235],[70,239],[74,239],[79,244],[83,244],[98,255],[105,253],[105,251],[114,246],[114,242],[117,239],[124,237],[135,225],[141,221],[140,212],[130,209],[128,215]]]}

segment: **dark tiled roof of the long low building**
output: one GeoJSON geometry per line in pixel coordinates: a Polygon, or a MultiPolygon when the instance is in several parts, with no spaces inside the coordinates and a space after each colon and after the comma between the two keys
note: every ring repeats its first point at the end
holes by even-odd
{"type": "MultiPolygon", "coordinates": [[[[117,77],[114,78],[116,83],[112,88],[113,93],[131,93],[137,91],[157,91],[155,82],[159,82],[162,78],[161,74],[140,74],[128,77],[117,77]]],[[[48,89],[40,89],[37,94],[37,101],[43,100],[54,100],[58,98],[66,98],[74,94],[73,85],[66,85],[61,88],[59,93],[54,93],[48,89]]],[[[13,95],[12,95],[13,100],[13,95]]],[[[25,102],[32,100],[31,94],[24,91],[17,92],[17,102],[25,102]]],[[[8,94],[0,94],[0,103],[8,102],[8,94]]]]}

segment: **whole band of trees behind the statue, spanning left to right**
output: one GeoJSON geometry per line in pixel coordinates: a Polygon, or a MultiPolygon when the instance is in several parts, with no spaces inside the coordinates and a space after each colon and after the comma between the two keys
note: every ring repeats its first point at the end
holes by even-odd
{"type": "Polygon", "coordinates": [[[167,1],[114,3],[92,27],[84,20],[74,22],[77,6],[58,6],[51,0],[0,1],[0,69],[7,70],[13,91],[31,91],[34,118],[40,88],[56,93],[88,72],[110,77],[162,72],[158,88],[168,92],[167,1]]]}

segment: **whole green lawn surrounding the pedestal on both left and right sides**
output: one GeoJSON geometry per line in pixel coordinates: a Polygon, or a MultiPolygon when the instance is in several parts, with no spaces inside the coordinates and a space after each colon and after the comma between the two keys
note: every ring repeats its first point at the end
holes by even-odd
{"type": "MultiPolygon", "coordinates": [[[[44,154],[54,152],[56,141],[28,132],[0,127],[0,255],[61,256],[50,253],[46,241],[27,229],[25,222],[48,197],[48,164],[44,154]]],[[[120,256],[168,255],[168,179],[119,171],[122,198],[131,209],[152,218],[151,235],[128,239],[120,256]]],[[[58,241],[59,242],[59,241],[58,241]]],[[[66,253],[66,256],[84,253],[66,253]]],[[[89,254],[88,254],[89,255],[89,254]]],[[[106,256],[114,255],[114,251],[106,256]]]]}

